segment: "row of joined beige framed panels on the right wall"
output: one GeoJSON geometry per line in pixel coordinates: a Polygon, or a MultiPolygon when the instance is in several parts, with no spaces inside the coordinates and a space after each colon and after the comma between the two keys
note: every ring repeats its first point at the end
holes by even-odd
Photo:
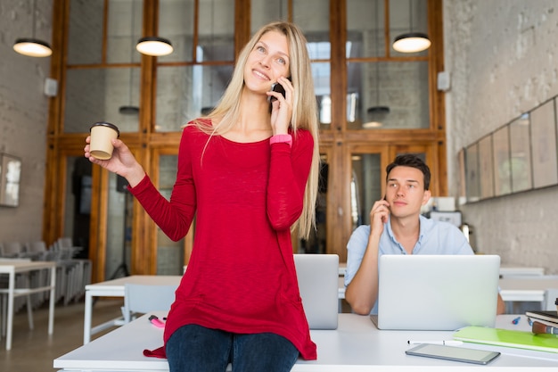
{"type": "Polygon", "coordinates": [[[466,203],[558,186],[558,95],[465,147],[459,166],[466,203]]]}

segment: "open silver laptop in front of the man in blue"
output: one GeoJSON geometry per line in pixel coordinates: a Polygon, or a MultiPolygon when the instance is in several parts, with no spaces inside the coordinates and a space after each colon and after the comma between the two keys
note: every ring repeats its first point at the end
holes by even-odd
{"type": "Polygon", "coordinates": [[[379,329],[494,327],[499,267],[497,255],[384,254],[371,318],[379,329]]]}

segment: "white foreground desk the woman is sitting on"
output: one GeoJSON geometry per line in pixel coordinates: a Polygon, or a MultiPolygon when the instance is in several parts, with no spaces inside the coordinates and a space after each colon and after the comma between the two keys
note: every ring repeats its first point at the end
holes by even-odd
{"type": "MultiPolygon", "coordinates": [[[[165,312],[153,312],[160,318],[165,312]]],[[[144,349],[155,349],[163,343],[163,331],[148,321],[150,314],[137,318],[91,343],[62,355],[53,361],[54,368],[70,371],[168,371],[167,360],[144,357],[144,349]],[[115,347],[119,345],[119,347],[115,347]]],[[[439,371],[483,370],[499,372],[532,372],[558,368],[558,353],[527,351],[514,348],[464,343],[472,349],[495,350],[502,355],[488,364],[476,366],[446,360],[411,357],[405,351],[412,347],[407,340],[447,340],[453,332],[379,331],[370,318],[356,314],[340,314],[339,328],[334,331],[310,331],[317,344],[317,360],[299,360],[293,372],[330,371],[439,371]]],[[[514,315],[499,316],[496,327],[529,328],[524,316],[517,326],[514,315]]]]}

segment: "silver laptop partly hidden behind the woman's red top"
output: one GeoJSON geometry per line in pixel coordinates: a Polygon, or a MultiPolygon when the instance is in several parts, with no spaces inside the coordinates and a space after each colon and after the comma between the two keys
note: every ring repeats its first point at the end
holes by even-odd
{"type": "Polygon", "coordinates": [[[300,298],[310,329],[337,329],[339,256],[295,254],[300,298]]]}

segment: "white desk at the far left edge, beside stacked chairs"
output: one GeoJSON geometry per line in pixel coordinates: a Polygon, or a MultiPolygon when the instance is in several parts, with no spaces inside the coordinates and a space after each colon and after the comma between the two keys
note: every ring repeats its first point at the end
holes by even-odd
{"type": "Polygon", "coordinates": [[[31,293],[50,291],[48,310],[48,334],[52,335],[54,330],[54,302],[56,285],[56,262],[54,261],[26,261],[26,260],[0,260],[0,274],[8,274],[8,288],[0,289],[0,293],[8,294],[8,314],[6,331],[6,350],[12,349],[13,330],[13,299],[15,297],[29,295],[31,293]],[[50,283],[36,288],[16,288],[15,275],[29,273],[30,271],[50,269],[50,283]]]}

